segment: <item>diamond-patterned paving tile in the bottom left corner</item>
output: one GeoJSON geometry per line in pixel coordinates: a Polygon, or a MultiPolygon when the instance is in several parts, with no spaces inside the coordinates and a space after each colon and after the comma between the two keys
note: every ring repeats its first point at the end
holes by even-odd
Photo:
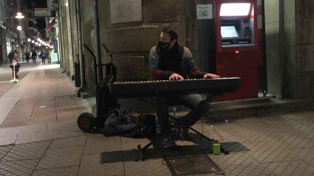
{"type": "Polygon", "coordinates": [[[0,162],[0,175],[29,176],[39,159],[0,162]]]}

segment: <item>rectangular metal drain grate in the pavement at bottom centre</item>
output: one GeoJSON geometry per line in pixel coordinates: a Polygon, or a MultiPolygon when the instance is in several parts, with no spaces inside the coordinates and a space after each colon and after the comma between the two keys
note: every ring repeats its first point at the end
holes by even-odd
{"type": "Polygon", "coordinates": [[[223,173],[207,155],[166,158],[172,175],[223,173]]]}

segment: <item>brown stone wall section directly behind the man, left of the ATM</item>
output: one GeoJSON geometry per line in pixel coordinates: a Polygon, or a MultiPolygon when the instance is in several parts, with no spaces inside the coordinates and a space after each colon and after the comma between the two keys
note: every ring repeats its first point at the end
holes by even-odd
{"type": "MultiPolygon", "coordinates": [[[[159,41],[162,28],[172,26],[179,43],[197,58],[196,3],[169,0],[99,1],[100,43],[113,53],[118,80],[150,80],[149,51],[159,41]],[[132,14],[132,15],[129,15],[132,14]]],[[[109,56],[101,47],[102,62],[109,56]]]]}

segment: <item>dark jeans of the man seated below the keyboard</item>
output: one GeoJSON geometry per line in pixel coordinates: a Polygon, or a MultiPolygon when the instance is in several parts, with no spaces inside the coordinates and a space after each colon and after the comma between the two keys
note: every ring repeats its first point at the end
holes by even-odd
{"type": "Polygon", "coordinates": [[[167,136],[170,132],[170,124],[168,118],[168,108],[170,102],[177,102],[181,105],[194,109],[203,100],[200,94],[181,95],[172,97],[156,97],[156,114],[158,118],[158,125],[161,132],[167,136]]]}

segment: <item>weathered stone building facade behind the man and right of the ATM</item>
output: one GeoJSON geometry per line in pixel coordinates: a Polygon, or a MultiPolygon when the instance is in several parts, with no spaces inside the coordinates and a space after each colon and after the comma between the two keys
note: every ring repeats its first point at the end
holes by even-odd
{"type": "MultiPolygon", "coordinates": [[[[79,55],[79,29],[82,26],[83,43],[89,46],[102,63],[109,55],[101,44],[113,53],[118,69],[117,80],[151,80],[149,51],[156,45],[162,28],[171,26],[179,34],[179,43],[188,47],[200,68],[197,4],[214,4],[214,0],[108,0],[108,1],[54,0],[57,11],[61,67],[69,75],[76,75],[74,63],[79,55]],[[79,3],[79,9],[78,4],[79,3]],[[96,5],[97,6],[96,6],[96,5]],[[97,13],[95,13],[97,8],[97,13]],[[81,13],[78,19],[77,12],[81,13]],[[132,14],[132,15],[130,15],[132,14]],[[98,18],[98,35],[94,19],[98,18]],[[99,40],[99,42],[97,42],[99,40]],[[96,46],[99,48],[96,48],[96,46]]],[[[262,0],[265,16],[265,49],[268,91],[288,98],[314,97],[314,67],[311,43],[313,1],[262,0]]],[[[215,18],[215,17],[214,17],[215,18]]],[[[93,57],[83,48],[85,91],[95,94],[93,57]]],[[[206,59],[206,58],[205,58],[206,59]]],[[[202,70],[203,71],[203,70],[202,70]]],[[[104,74],[104,72],[103,72],[104,74]]],[[[135,102],[135,101],[134,101],[135,102]]],[[[137,103],[132,103],[138,106],[137,103]]]]}

